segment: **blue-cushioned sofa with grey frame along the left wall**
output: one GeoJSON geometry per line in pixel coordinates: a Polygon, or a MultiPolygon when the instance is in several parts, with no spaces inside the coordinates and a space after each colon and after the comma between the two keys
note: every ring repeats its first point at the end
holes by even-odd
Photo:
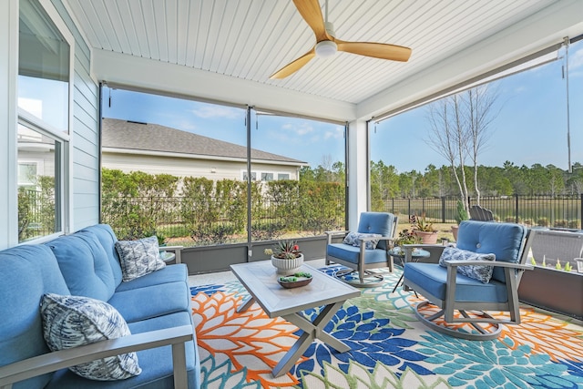
{"type": "Polygon", "coordinates": [[[0,387],[199,388],[186,265],[122,282],[116,241],[113,230],[99,224],[0,251],[0,387]],[[107,302],[128,322],[131,335],[51,353],[39,309],[45,293],[107,302]],[[126,380],[94,381],[66,368],[132,351],[142,373],[126,380]]]}

